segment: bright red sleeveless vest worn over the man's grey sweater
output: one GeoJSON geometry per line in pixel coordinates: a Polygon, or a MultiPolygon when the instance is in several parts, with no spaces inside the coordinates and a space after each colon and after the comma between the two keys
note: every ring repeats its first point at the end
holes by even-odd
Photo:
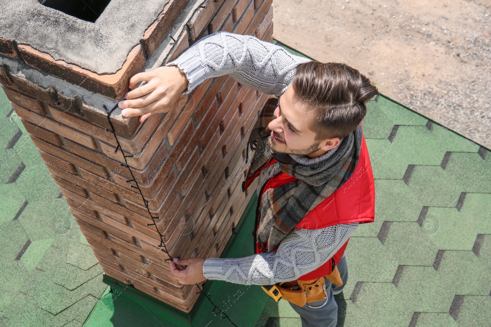
{"type": "MultiPolygon", "coordinates": [[[[261,169],[264,169],[276,160],[272,158],[267,164],[261,167],[253,176],[247,179],[244,183],[244,190],[249,187],[254,178],[259,175],[261,169]]],[[[250,172],[250,168],[249,168],[250,172]]],[[[247,173],[248,175],[248,173],[247,173]]],[[[279,173],[271,177],[263,186],[261,197],[258,199],[256,208],[256,224],[254,235],[259,226],[259,207],[261,205],[262,195],[269,188],[281,186],[283,184],[294,181],[295,177],[286,173],[279,173]]],[[[370,156],[368,155],[365,137],[362,134],[361,151],[353,175],[331,194],[326,200],[322,201],[314,209],[309,211],[307,215],[295,226],[295,228],[304,229],[319,229],[337,224],[348,223],[372,223],[375,218],[375,183],[372,173],[372,165],[370,164],[370,156]]],[[[255,236],[254,236],[255,240],[255,236]]],[[[300,280],[316,279],[332,272],[334,265],[337,265],[344,254],[344,250],[348,245],[349,239],[343,246],[330,258],[325,264],[316,270],[307,273],[300,280]]],[[[256,242],[256,241],[255,241],[256,242]]],[[[254,253],[266,252],[266,249],[260,243],[255,243],[254,253]]]]}

